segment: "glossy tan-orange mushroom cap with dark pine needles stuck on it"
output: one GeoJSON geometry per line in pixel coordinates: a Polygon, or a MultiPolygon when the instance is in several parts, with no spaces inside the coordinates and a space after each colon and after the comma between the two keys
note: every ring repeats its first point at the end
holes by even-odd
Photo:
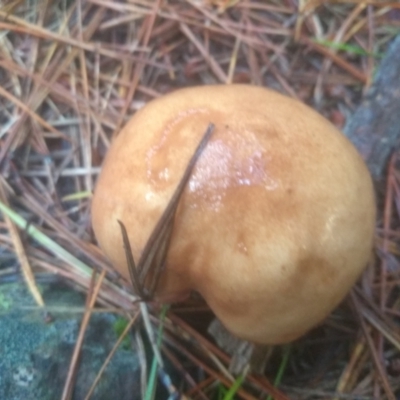
{"type": "Polygon", "coordinates": [[[96,238],[129,278],[207,126],[181,195],[155,299],[199,292],[234,335],[296,339],[320,323],[371,255],[375,199],[356,149],[299,101],[250,85],[177,90],[113,139],[93,197],[96,238]]]}

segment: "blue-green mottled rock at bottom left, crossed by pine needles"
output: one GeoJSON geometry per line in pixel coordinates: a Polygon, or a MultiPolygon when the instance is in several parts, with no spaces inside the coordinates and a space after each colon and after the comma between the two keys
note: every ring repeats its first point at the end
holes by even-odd
{"type": "MultiPolygon", "coordinates": [[[[83,307],[84,297],[62,284],[41,285],[47,306],[83,307]]],[[[22,310],[33,306],[23,283],[0,285],[0,399],[60,399],[82,313],[22,310]]],[[[81,351],[73,399],[84,399],[117,340],[117,316],[93,314],[81,351]]],[[[133,343],[131,344],[133,346],[133,343]]],[[[92,399],[140,399],[140,366],[132,349],[120,346],[92,399]]]]}

